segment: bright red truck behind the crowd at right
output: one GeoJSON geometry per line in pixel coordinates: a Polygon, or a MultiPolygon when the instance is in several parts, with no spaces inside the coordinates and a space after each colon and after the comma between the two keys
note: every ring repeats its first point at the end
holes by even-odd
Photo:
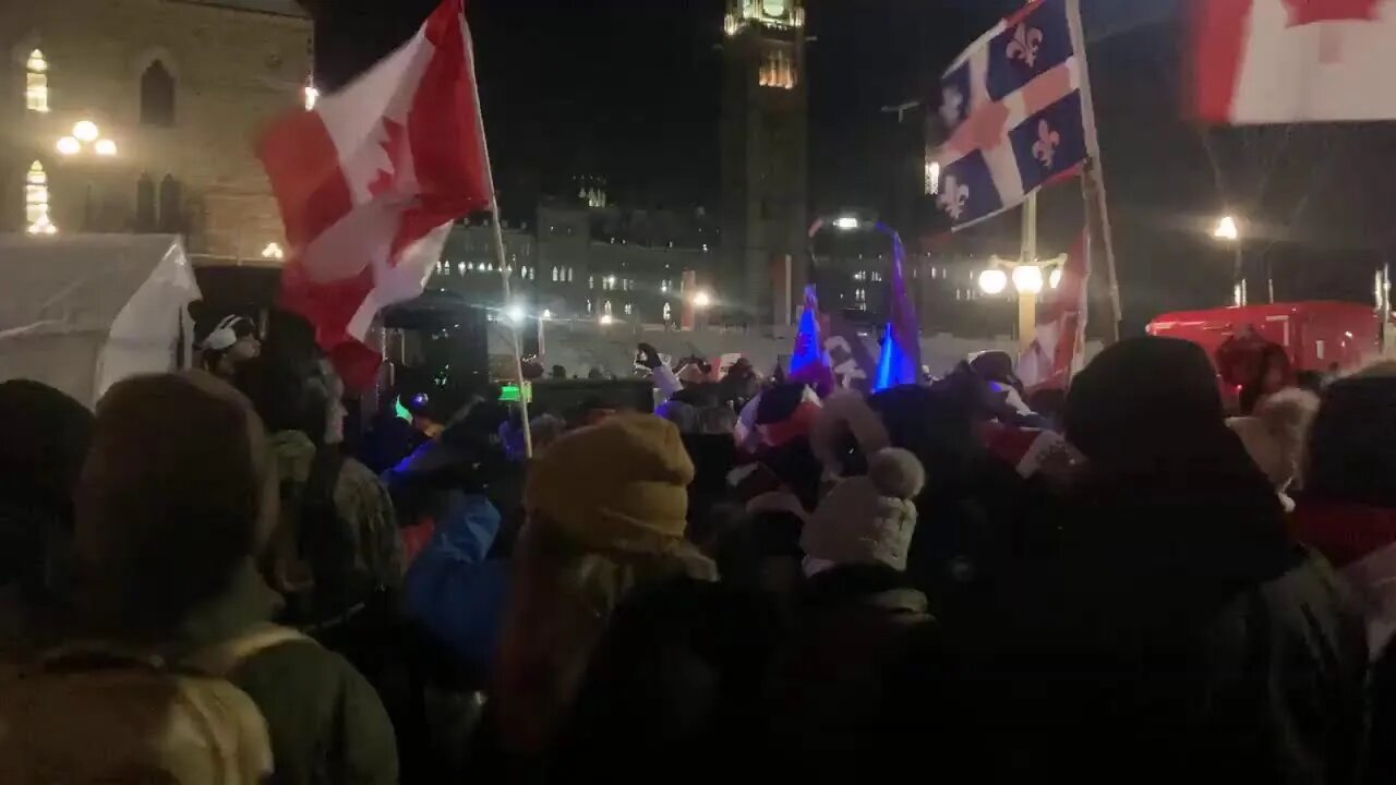
{"type": "Polygon", "coordinates": [[[1311,302],[1224,307],[1163,314],[1149,324],[1150,335],[1184,338],[1216,360],[1233,335],[1252,331],[1284,348],[1294,370],[1349,369],[1382,348],[1376,310],[1358,303],[1311,302]]]}

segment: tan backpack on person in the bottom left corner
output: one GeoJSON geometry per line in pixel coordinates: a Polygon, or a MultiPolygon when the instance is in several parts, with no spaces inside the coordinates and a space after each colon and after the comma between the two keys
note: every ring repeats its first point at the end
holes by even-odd
{"type": "Polygon", "coordinates": [[[226,676],[296,640],[304,636],[267,624],[176,663],[107,644],[52,651],[3,687],[0,782],[265,782],[267,722],[226,676]]]}

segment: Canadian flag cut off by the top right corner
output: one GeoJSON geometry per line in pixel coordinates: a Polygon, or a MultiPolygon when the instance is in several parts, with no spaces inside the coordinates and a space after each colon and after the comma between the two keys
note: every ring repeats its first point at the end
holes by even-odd
{"type": "Polygon", "coordinates": [[[1215,123],[1396,117],[1396,0],[1196,0],[1196,101],[1215,123]]]}

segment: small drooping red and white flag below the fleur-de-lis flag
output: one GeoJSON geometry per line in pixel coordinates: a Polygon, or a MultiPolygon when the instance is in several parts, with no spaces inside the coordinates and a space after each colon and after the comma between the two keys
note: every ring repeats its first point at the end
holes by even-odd
{"type": "Polygon", "coordinates": [[[1018,379],[1027,390],[1065,390],[1086,365],[1089,257],[1089,237],[1082,232],[1037,316],[1036,338],[1018,359],[1018,379]]]}

